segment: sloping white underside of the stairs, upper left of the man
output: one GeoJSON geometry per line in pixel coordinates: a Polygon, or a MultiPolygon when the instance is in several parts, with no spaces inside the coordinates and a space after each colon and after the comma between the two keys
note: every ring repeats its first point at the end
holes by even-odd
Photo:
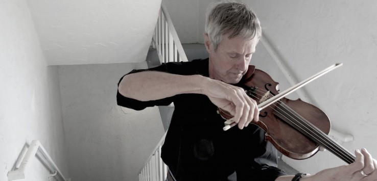
{"type": "Polygon", "coordinates": [[[145,61],[160,3],[28,1],[49,65],[145,61]]]}

